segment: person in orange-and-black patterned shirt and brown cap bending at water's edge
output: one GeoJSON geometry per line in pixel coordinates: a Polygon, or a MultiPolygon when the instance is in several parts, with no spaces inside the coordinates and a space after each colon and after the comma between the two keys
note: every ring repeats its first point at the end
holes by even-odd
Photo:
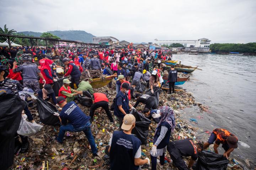
{"type": "Polygon", "coordinates": [[[213,144],[213,149],[215,153],[218,152],[218,147],[222,144],[222,148],[225,150],[223,154],[227,159],[230,153],[235,149],[238,148],[238,138],[230,133],[228,130],[222,128],[216,128],[211,133],[208,142],[204,143],[204,149],[208,148],[210,144],[213,144]],[[214,143],[215,141],[215,143],[214,143]]]}

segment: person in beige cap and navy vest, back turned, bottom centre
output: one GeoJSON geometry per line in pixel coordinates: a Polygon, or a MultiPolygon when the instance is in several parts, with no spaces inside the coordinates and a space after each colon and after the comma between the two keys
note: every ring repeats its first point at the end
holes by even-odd
{"type": "Polygon", "coordinates": [[[110,153],[111,170],[120,169],[120,167],[122,170],[137,170],[140,165],[150,165],[149,158],[140,159],[141,142],[132,135],[135,121],[132,114],[125,115],[121,127],[123,131],[114,131],[110,138],[110,147],[106,147],[106,150],[110,153]]]}

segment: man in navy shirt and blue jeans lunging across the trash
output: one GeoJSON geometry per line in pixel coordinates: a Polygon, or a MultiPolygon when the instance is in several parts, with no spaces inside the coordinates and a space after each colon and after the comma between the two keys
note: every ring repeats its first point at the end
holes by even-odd
{"type": "Polygon", "coordinates": [[[66,102],[64,97],[57,98],[57,104],[62,108],[62,111],[59,113],[55,112],[55,116],[59,116],[59,119],[62,122],[62,126],[60,126],[59,135],[57,137],[57,142],[62,143],[63,137],[66,131],[69,132],[81,132],[83,131],[90,143],[92,156],[97,157],[97,148],[94,141],[94,137],[91,133],[91,123],[90,116],[86,116],[82,110],[75,104],[75,102],[71,101],[69,103],[66,102]],[[69,124],[67,124],[69,121],[69,124]]]}

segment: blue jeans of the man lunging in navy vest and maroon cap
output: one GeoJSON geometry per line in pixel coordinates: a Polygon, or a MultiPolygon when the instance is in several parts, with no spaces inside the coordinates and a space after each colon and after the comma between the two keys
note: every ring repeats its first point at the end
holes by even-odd
{"type": "Polygon", "coordinates": [[[65,135],[66,131],[69,131],[69,132],[81,132],[81,131],[83,131],[85,133],[89,143],[90,143],[92,153],[97,153],[98,149],[96,148],[94,137],[92,136],[92,133],[91,133],[91,123],[90,123],[90,121],[86,122],[84,126],[81,126],[79,128],[74,128],[74,126],[71,125],[71,124],[60,126],[59,135],[57,137],[57,141],[59,143],[63,142],[63,138],[64,138],[64,135],[65,135]]]}

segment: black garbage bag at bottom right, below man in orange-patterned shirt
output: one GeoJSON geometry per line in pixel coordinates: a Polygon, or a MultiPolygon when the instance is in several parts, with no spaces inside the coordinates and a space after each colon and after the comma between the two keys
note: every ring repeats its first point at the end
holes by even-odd
{"type": "Polygon", "coordinates": [[[225,170],[229,160],[208,150],[198,153],[198,159],[193,165],[194,170],[225,170]]]}

